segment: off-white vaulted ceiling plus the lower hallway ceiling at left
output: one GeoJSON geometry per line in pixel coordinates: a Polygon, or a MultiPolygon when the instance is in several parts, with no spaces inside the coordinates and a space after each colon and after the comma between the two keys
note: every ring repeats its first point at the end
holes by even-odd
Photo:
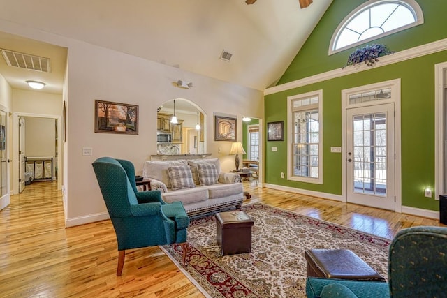
{"type": "MultiPolygon", "coordinates": [[[[0,0],[0,19],[264,90],[279,80],[331,2],[300,9],[298,0],[0,0]],[[233,54],[229,62],[219,59],[223,50],[233,54]]],[[[44,43],[0,34],[2,48],[52,59],[54,73],[34,76],[61,93],[66,49],[46,46],[48,52],[44,43]]],[[[13,88],[27,88],[22,71],[3,63],[0,73],[13,88]]]]}

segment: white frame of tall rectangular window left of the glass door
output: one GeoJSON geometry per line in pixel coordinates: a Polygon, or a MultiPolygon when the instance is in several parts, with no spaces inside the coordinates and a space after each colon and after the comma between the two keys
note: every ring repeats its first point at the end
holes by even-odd
{"type": "Polygon", "coordinates": [[[287,97],[287,180],[307,182],[311,184],[323,184],[323,89],[310,91],[304,94],[296,94],[287,97]],[[293,125],[292,102],[295,99],[318,96],[318,178],[300,177],[293,175],[293,125]]]}

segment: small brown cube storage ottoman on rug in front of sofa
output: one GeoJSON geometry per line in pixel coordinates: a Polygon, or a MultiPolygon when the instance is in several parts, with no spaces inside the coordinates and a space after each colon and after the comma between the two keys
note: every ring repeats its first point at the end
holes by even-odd
{"type": "Polygon", "coordinates": [[[222,255],[251,252],[252,226],[253,220],[244,211],[216,214],[216,241],[222,255]]]}

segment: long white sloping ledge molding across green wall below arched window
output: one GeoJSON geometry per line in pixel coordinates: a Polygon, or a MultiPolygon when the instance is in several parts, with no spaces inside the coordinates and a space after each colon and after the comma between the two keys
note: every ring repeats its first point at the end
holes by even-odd
{"type": "MultiPolygon", "coordinates": [[[[380,61],[376,62],[373,68],[395,64],[397,62],[406,61],[417,57],[423,57],[429,54],[434,54],[445,50],[447,50],[447,38],[434,41],[433,43],[420,45],[418,47],[413,47],[408,50],[396,52],[395,54],[380,57],[380,61]]],[[[305,77],[300,80],[295,80],[292,82],[288,82],[286,84],[270,87],[264,90],[264,95],[275,94],[278,92],[307,86],[309,84],[314,84],[317,82],[324,82],[327,80],[335,79],[336,77],[344,77],[345,75],[360,73],[362,71],[371,69],[372,68],[366,66],[366,64],[361,64],[360,66],[348,66],[344,69],[337,68],[335,70],[329,70],[325,73],[319,73],[318,75],[312,75],[310,77],[305,77]]]]}

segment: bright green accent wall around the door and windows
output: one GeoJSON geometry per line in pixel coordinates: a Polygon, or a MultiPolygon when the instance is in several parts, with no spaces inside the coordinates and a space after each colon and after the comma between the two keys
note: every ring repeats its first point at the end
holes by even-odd
{"type": "MultiPolygon", "coordinates": [[[[363,2],[333,1],[279,84],[341,68],[353,49],[328,56],[330,38],[344,16],[363,2]]],[[[398,52],[446,38],[447,30],[440,28],[444,28],[447,1],[418,3],[423,8],[424,24],[375,40],[374,43],[384,43],[398,52]]],[[[425,198],[423,189],[428,186],[434,190],[434,65],[444,61],[447,61],[447,51],[265,96],[265,125],[284,120],[287,136],[287,96],[323,90],[323,184],[281,179],[281,172],[287,172],[286,141],[265,143],[265,182],[342,195],[344,156],[330,153],[330,147],[343,146],[341,92],[353,87],[400,79],[402,149],[397,154],[402,158],[402,206],[439,210],[439,202],[434,197],[425,198]],[[277,147],[277,151],[271,150],[273,146],[277,147]]]]}

